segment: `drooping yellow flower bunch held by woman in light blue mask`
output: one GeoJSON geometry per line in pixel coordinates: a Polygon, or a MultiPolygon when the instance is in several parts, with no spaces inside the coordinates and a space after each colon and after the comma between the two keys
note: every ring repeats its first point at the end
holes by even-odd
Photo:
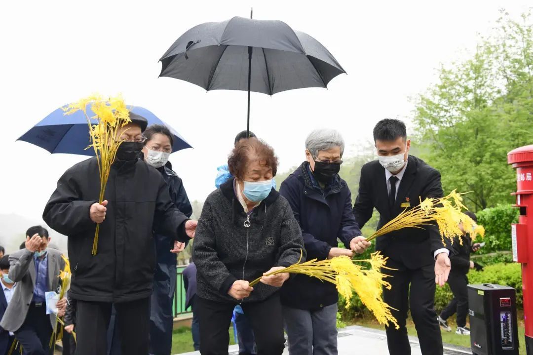
{"type": "MultiPolygon", "coordinates": [[[[266,276],[285,272],[299,273],[335,284],[337,291],[346,299],[346,308],[350,306],[355,292],[380,324],[392,323],[398,328],[397,321],[391,314],[392,308],[383,302],[382,287],[390,289],[391,285],[384,280],[387,276],[381,272],[385,268],[386,258],[379,252],[373,253],[369,260],[351,260],[348,256],[339,256],[328,260],[300,261],[266,276]],[[371,269],[366,270],[359,263],[368,263],[371,269]]],[[[255,279],[250,286],[256,285],[260,280],[261,278],[255,279]]]]}

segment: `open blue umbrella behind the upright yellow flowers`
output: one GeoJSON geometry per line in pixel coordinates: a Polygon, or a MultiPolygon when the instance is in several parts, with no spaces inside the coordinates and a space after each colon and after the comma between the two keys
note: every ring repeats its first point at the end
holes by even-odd
{"type": "MultiPolygon", "coordinates": [[[[160,124],[167,126],[174,136],[173,152],[192,148],[179,133],[157,118],[151,111],[139,106],[133,107],[131,111],[146,118],[148,125],[160,124]]],[[[88,106],[87,113],[92,113],[88,106]]],[[[77,111],[75,114],[68,116],[63,114],[64,112],[61,108],[53,111],[31,130],[23,134],[18,141],[35,144],[37,147],[46,149],[52,154],[64,153],[94,156],[93,149],[85,150],[90,141],[87,119],[83,112],[77,111]]]]}

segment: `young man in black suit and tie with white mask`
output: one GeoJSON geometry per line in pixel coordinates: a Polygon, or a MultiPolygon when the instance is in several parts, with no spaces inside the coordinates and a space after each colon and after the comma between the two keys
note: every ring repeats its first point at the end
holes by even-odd
{"type": "MultiPolygon", "coordinates": [[[[379,212],[378,228],[392,220],[405,208],[419,203],[419,198],[442,197],[440,174],[414,156],[409,156],[410,140],[406,127],[397,119],[383,119],[374,127],[378,160],[361,168],[359,195],[353,214],[362,228],[379,212]]],[[[392,288],[383,290],[384,301],[392,308],[399,329],[386,327],[389,352],[411,353],[406,319],[410,308],[423,355],[442,350],[437,314],[433,309],[435,283],[443,286],[450,272],[448,246],[442,244],[436,226],[424,229],[402,229],[377,238],[376,250],[389,258],[384,270],[392,288]]]]}

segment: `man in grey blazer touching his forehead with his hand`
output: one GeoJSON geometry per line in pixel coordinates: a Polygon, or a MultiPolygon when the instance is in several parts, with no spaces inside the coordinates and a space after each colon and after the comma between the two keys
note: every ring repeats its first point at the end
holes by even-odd
{"type": "MultiPolygon", "coordinates": [[[[59,251],[47,248],[51,238],[45,228],[31,227],[26,236],[26,248],[9,256],[8,277],[17,287],[0,326],[15,334],[24,353],[52,354],[49,344],[56,315],[46,314],[45,293],[58,289],[64,261],[59,251]]],[[[63,298],[56,305],[62,317],[67,299],[63,298]]]]}

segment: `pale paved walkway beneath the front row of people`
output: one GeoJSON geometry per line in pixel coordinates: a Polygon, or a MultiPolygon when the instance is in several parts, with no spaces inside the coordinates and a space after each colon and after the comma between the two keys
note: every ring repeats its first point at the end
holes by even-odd
{"type": "MultiPolygon", "coordinates": [[[[409,337],[411,343],[411,355],[421,355],[416,337],[409,337]]],[[[183,355],[197,355],[199,351],[188,352],[183,355]]],[[[229,348],[229,355],[238,355],[239,348],[232,345],[229,348]]],[[[288,355],[285,348],[284,355],[288,355]]],[[[379,329],[371,329],[360,326],[351,326],[339,330],[338,333],[338,353],[340,355],[386,355],[389,354],[387,349],[387,338],[385,332],[379,329]]],[[[466,355],[472,354],[470,349],[458,348],[456,346],[445,345],[445,355],[466,355]]]]}

